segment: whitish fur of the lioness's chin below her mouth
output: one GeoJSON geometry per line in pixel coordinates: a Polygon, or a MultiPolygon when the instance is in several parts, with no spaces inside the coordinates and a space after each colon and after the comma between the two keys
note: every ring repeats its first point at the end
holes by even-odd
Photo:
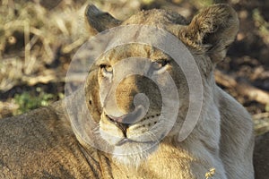
{"type": "Polygon", "coordinates": [[[128,142],[115,146],[113,159],[126,167],[137,169],[156,149],[157,143],[128,142]]]}

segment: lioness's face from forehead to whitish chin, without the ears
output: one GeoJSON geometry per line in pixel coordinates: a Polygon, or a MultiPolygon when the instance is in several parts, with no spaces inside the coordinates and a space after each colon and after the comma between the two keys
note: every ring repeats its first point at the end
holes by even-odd
{"type": "MultiPolygon", "coordinates": [[[[169,55],[141,44],[116,47],[101,55],[96,66],[99,88],[91,96],[98,98],[100,106],[100,117],[96,119],[100,137],[112,146],[118,160],[137,163],[157,148],[173,124],[166,117],[172,111],[162,110],[177,102],[173,101],[177,98],[162,98],[161,89],[169,87],[167,78],[173,79],[177,95],[184,101],[188,100],[185,76],[169,55]],[[132,159],[126,161],[126,156],[132,159]]],[[[91,84],[87,87],[91,93],[91,84]]]]}

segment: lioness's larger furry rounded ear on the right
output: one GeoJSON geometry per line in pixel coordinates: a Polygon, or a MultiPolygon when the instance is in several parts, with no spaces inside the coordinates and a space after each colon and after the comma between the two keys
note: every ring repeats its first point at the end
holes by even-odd
{"type": "Polygon", "coordinates": [[[198,13],[184,30],[193,47],[203,48],[213,62],[220,62],[239,30],[237,13],[228,4],[214,4],[198,13]]]}

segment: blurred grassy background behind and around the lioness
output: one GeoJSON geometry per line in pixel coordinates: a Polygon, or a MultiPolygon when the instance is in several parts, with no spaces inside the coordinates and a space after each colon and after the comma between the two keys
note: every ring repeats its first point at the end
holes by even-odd
{"type": "Polygon", "coordinates": [[[205,6],[230,4],[240,30],[217,67],[216,81],[247,108],[257,135],[269,131],[269,1],[264,0],[0,0],[0,118],[64,98],[68,64],[91,37],[83,17],[89,3],[120,20],[162,8],[188,21],[205,6]]]}

